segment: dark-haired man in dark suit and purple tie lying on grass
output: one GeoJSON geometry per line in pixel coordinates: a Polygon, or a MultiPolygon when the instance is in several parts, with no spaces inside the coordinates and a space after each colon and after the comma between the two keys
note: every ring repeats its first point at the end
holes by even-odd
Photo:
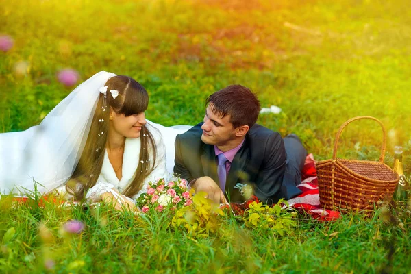
{"type": "Polygon", "coordinates": [[[282,138],[256,124],[260,101],[232,85],[210,95],[203,123],[175,139],[174,173],[216,203],[243,202],[256,195],[272,204],[301,191],[307,151],[295,134],[282,138]]]}

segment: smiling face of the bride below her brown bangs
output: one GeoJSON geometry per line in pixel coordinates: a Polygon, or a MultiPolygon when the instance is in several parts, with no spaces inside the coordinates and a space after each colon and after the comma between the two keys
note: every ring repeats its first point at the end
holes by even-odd
{"type": "Polygon", "coordinates": [[[141,127],[146,123],[144,112],[127,117],[116,112],[110,113],[110,129],[125,138],[140,137],[141,127]]]}

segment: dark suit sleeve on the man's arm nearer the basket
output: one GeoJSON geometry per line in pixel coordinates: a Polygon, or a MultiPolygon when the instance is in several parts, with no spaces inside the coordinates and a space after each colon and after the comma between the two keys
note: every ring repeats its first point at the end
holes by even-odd
{"type": "Polygon", "coordinates": [[[264,159],[256,180],[254,192],[260,201],[272,204],[282,198],[286,161],[284,140],[275,132],[266,140],[264,159]]]}

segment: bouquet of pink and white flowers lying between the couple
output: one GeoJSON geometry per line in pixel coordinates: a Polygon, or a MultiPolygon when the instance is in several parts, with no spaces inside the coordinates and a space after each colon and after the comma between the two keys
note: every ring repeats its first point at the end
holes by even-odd
{"type": "Polygon", "coordinates": [[[158,212],[167,207],[176,210],[192,204],[192,192],[188,190],[185,179],[175,178],[167,183],[164,179],[158,179],[155,183],[149,182],[147,192],[140,195],[136,202],[144,213],[150,208],[158,212]]]}

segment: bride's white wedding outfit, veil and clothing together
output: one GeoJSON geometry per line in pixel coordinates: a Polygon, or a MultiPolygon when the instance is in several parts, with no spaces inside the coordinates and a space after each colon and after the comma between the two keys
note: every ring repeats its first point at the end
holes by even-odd
{"type": "MultiPolygon", "coordinates": [[[[101,71],[80,84],[63,99],[40,125],[24,132],[0,134],[0,195],[24,195],[36,190],[42,194],[59,189],[70,179],[77,166],[86,136],[90,129],[101,87],[113,73],[101,71]]],[[[186,132],[190,126],[164,127],[147,121],[158,150],[158,166],[145,179],[140,195],[150,181],[171,177],[174,166],[174,141],[177,134],[186,132]],[[155,127],[158,129],[156,132],[155,127]]],[[[119,180],[105,152],[103,167],[97,184],[87,197],[93,201],[99,193],[111,188],[124,190],[132,182],[140,160],[140,138],[126,139],[123,155],[123,177],[119,180]]],[[[136,195],[136,197],[138,196],[136,195]]]]}

